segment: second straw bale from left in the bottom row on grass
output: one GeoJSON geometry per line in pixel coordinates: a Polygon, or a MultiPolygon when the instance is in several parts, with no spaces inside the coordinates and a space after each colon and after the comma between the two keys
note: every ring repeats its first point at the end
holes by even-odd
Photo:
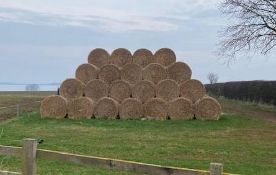
{"type": "Polygon", "coordinates": [[[68,101],[68,118],[90,119],[93,116],[93,101],[88,97],[74,98],[68,101]]]}

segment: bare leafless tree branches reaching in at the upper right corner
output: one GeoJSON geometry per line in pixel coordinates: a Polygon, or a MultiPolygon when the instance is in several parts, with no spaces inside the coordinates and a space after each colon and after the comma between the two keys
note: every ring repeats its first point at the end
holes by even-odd
{"type": "Polygon", "coordinates": [[[221,11],[234,19],[221,33],[221,55],[266,55],[276,46],[276,0],[223,0],[221,11]]]}

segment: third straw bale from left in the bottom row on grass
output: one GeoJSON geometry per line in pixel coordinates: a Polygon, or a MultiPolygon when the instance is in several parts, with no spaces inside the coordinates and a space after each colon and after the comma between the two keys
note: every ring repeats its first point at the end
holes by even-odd
{"type": "Polygon", "coordinates": [[[109,97],[101,98],[94,108],[95,118],[112,118],[116,119],[118,116],[118,103],[109,97]]]}

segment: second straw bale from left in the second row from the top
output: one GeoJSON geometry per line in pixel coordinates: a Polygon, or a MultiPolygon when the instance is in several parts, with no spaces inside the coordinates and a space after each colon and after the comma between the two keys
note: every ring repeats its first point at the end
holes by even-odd
{"type": "Polygon", "coordinates": [[[121,79],[121,71],[113,64],[105,65],[100,69],[99,79],[110,84],[112,81],[121,79]]]}

